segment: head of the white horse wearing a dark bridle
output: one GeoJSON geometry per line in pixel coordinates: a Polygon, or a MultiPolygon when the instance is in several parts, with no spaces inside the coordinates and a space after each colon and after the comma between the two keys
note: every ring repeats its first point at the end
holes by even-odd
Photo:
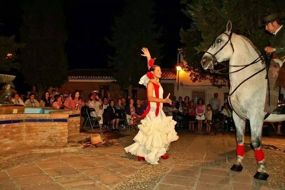
{"type": "Polygon", "coordinates": [[[232,23],[227,24],[227,29],[224,33],[218,36],[211,47],[206,51],[201,59],[203,69],[213,69],[217,62],[229,60],[234,52],[232,45],[232,23]]]}

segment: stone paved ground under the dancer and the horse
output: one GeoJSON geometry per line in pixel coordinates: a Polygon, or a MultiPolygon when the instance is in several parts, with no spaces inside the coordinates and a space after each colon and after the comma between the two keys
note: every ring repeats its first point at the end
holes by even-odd
{"type": "MultiPolygon", "coordinates": [[[[269,179],[255,180],[254,151],[245,146],[243,171],[232,172],[234,134],[197,135],[182,132],[171,143],[170,158],[159,165],[136,161],[123,148],[135,131],[119,145],[85,148],[82,153],[31,154],[0,162],[0,189],[285,189],[285,138],[264,137],[269,179]]],[[[249,137],[246,137],[249,142],[249,137]]]]}

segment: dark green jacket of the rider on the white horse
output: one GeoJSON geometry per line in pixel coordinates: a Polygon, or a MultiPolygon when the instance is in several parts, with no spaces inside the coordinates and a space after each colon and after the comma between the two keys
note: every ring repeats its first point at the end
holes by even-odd
{"type": "Polygon", "coordinates": [[[275,54],[279,58],[285,58],[285,26],[282,26],[276,35],[271,36],[270,45],[276,49],[275,54]]]}

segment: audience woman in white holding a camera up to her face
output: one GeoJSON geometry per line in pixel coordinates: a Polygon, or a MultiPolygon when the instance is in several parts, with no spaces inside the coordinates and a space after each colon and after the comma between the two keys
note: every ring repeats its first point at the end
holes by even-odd
{"type": "Polygon", "coordinates": [[[99,125],[100,127],[102,127],[103,124],[103,111],[102,111],[102,104],[101,104],[101,100],[99,99],[98,93],[92,93],[88,95],[89,97],[89,108],[94,108],[95,111],[92,111],[90,114],[92,117],[100,117],[100,121],[99,121],[99,125]]]}

